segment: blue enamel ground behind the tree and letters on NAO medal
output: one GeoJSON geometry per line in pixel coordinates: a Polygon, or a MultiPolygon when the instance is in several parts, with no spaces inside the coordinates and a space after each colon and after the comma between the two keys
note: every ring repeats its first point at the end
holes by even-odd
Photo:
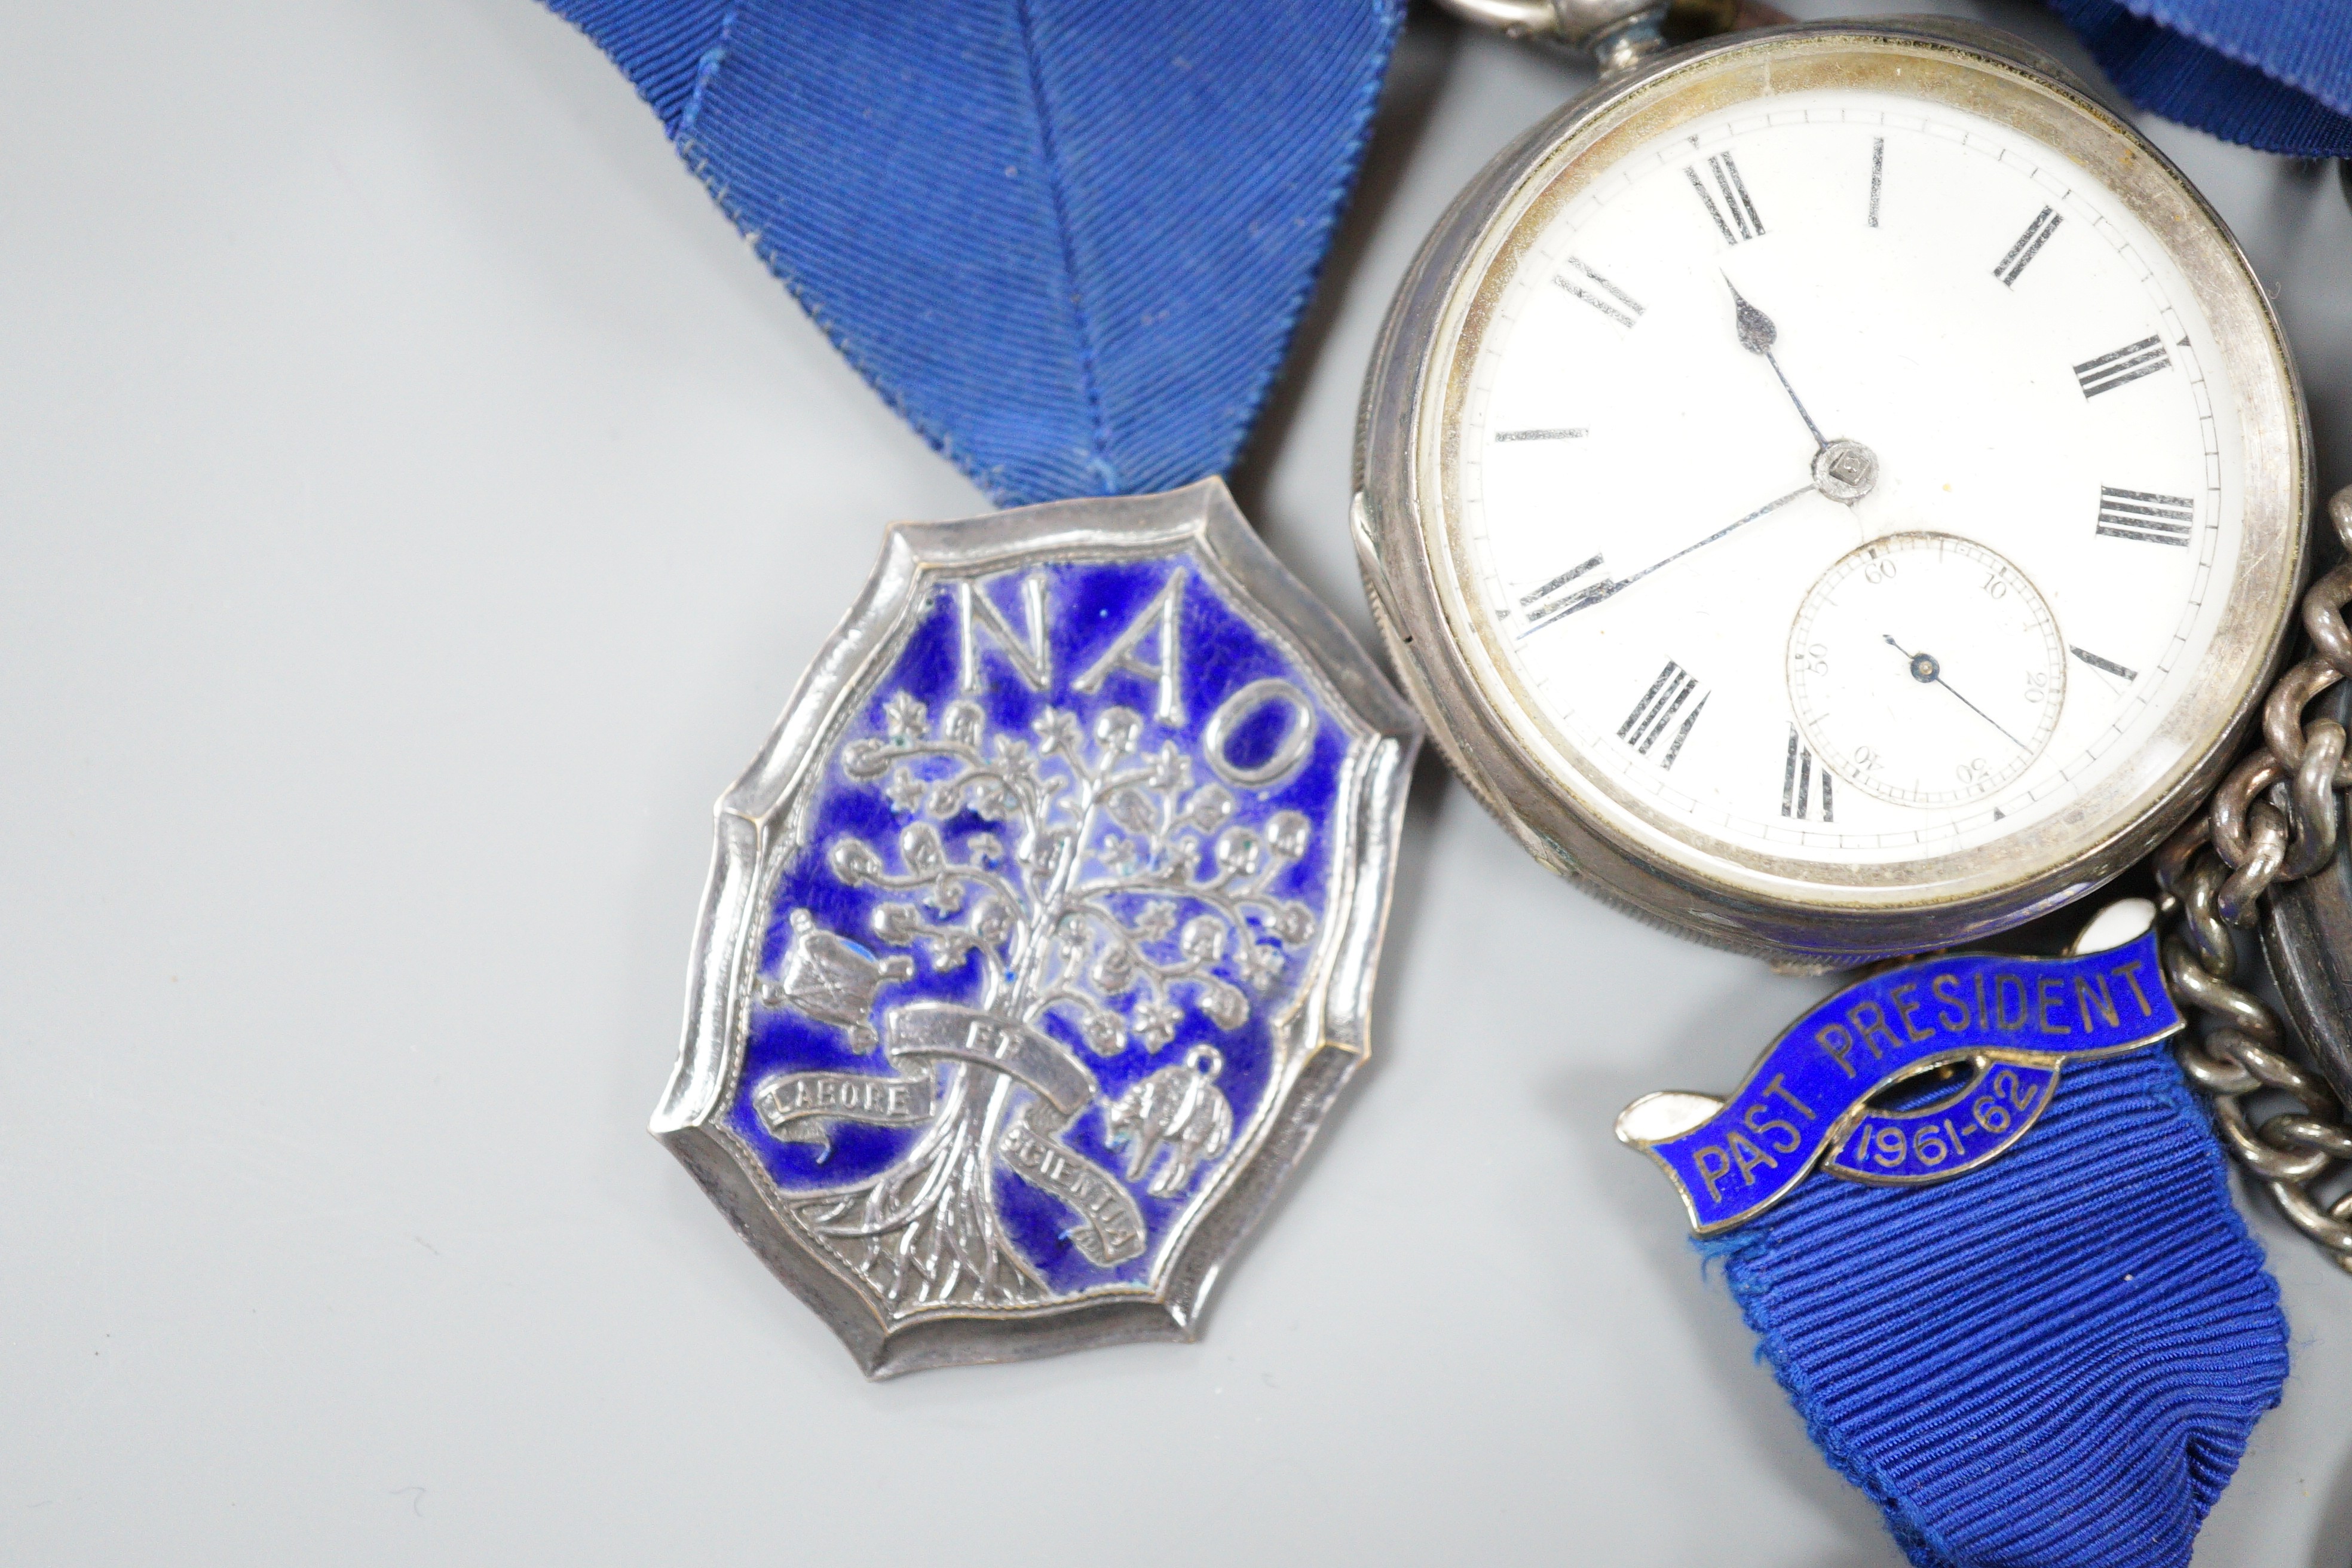
{"type": "MultiPolygon", "coordinates": [[[[1225,1067],[1216,1086],[1232,1103],[1237,1145],[1263,1110],[1268,1081],[1275,1070],[1270,1020],[1289,1011],[1298,987],[1315,966],[1317,945],[1329,940],[1331,816],[1348,757],[1348,731],[1319,701],[1312,677],[1294,665],[1279,644],[1258,635],[1249,621],[1235,614],[1223,599],[1216,578],[1190,552],[1143,562],[1049,562],[1040,569],[983,578],[976,592],[985,592],[1016,630],[1025,630],[1028,625],[1018,581],[1033,571],[1042,571],[1047,578],[1051,682],[1047,691],[1033,691],[1018,679],[997,642],[978,635],[976,644],[985,679],[974,701],[983,705],[988,724],[997,733],[1035,743],[1030,722],[1047,708],[1073,712],[1080,726],[1091,733],[1096,715],[1108,708],[1127,708],[1143,719],[1138,752],[1150,755],[1164,741],[1174,741],[1178,750],[1192,757],[1195,785],[1204,785],[1214,783],[1216,773],[1200,759],[1200,731],[1230,693],[1256,679],[1282,677],[1294,682],[1315,703],[1315,738],[1305,764],[1272,790],[1232,790],[1237,797],[1235,823],[1263,825],[1275,811],[1284,809],[1298,811],[1312,823],[1308,853],[1296,865],[1284,867],[1265,886],[1265,893],[1308,905],[1315,912],[1315,938],[1303,945],[1282,945],[1289,961],[1282,978],[1263,992],[1242,983],[1232,952],[1214,966],[1218,978],[1242,987],[1249,997],[1249,1018],[1237,1030],[1221,1030],[1195,1006],[1190,992],[1178,992],[1171,997],[1181,1006],[1174,1041],[1157,1051],[1145,1051],[1143,1041],[1129,1034],[1127,1046],[1108,1058],[1089,1051],[1077,1027],[1061,1011],[1047,1013],[1035,1025],[1068,1046],[1075,1058],[1084,1060],[1101,1084],[1098,1100],[1080,1112],[1077,1121],[1061,1135],[1061,1143],[1124,1182],[1124,1150],[1105,1145],[1103,1110],[1129,1084],[1181,1063],[1190,1046],[1209,1044],[1223,1056],[1225,1067]],[[1157,679],[1134,672],[1112,672],[1091,696],[1073,691],[1070,684],[1150,607],[1174,569],[1183,569],[1188,576],[1178,616],[1183,724],[1164,726],[1152,719],[1157,679]]],[[[1157,637],[1145,639],[1141,651],[1145,663],[1150,663],[1157,656],[1157,637]]],[[[880,943],[873,936],[875,905],[906,900],[908,896],[873,886],[847,886],[826,863],[826,849],[835,839],[851,835],[875,846],[889,870],[906,870],[898,863],[896,839],[898,830],[915,818],[891,809],[882,795],[880,778],[849,778],[840,766],[840,755],[861,738],[887,736],[884,705],[901,691],[920,698],[936,717],[941,708],[960,696],[957,675],[957,607],[953,592],[938,588],[896,663],[863,691],[856,717],[835,736],[821,776],[809,785],[816,790],[816,799],[807,811],[809,839],[800,858],[786,865],[776,879],[760,947],[762,976],[779,971],[783,952],[790,945],[790,912],[809,910],[818,926],[861,943],[875,954],[906,952],[915,959],[913,980],[880,990],[877,1020],[906,1001],[981,1001],[983,976],[978,954],[964,954],[960,964],[938,971],[922,947],[880,943]]],[[[1261,712],[1256,722],[1242,724],[1228,741],[1228,757],[1242,766],[1265,757],[1277,743],[1282,719],[1284,712],[1272,708],[1261,712]]],[[[1058,764],[1047,762],[1047,769],[1056,771],[1058,764]]],[[[941,820],[938,830],[950,858],[960,858],[971,835],[1002,835],[1004,825],[962,811],[941,820]]],[[[1202,865],[1209,865],[1207,844],[1202,846],[1202,865]]],[[[1261,938],[1268,936],[1263,929],[1256,933],[1261,938]]],[[[922,1128],[830,1121],[833,1147],[826,1157],[818,1157],[809,1145],[774,1140],[750,1110],[750,1088],[776,1072],[811,1070],[891,1074],[880,1051],[863,1056],[851,1051],[844,1032],[833,1025],[816,1023],[788,1009],[755,1009],[743,1070],[736,1077],[734,1100],[727,1107],[727,1124],[757,1154],[767,1175],[786,1197],[849,1187],[877,1175],[896,1164],[922,1135],[922,1128]]],[[[1181,1215],[1192,1194],[1216,1178],[1223,1159],[1204,1164],[1176,1199],[1155,1199],[1145,1192],[1143,1182],[1150,1180],[1150,1171],[1138,1182],[1124,1182],[1143,1213],[1148,1244],[1143,1255],[1108,1269],[1087,1262],[1068,1239],[1075,1215],[1051,1194],[1023,1182],[1002,1161],[995,1166],[997,1206],[1014,1244],[1058,1295],[1110,1281],[1143,1281],[1157,1262],[1169,1225],[1181,1215]]]]}

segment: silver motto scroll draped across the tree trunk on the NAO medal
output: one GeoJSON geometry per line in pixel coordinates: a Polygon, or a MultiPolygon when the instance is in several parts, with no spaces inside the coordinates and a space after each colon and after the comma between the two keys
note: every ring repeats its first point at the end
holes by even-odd
{"type": "Polygon", "coordinates": [[[1094,1103],[1094,1072],[1061,1041],[1025,1023],[955,1001],[910,1001],[882,1020],[882,1053],[901,1077],[870,1072],[779,1072],[753,1088],[750,1103],[779,1143],[830,1150],[828,1121],[920,1126],[931,1119],[934,1067],[941,1060],[988,1067],[1037,1095],[997,1140],[997,1157],[1070,1206],[1070,1232],[1096,1267],[1143,1253],[1143,1213],[1127,1187],[1058,1140],[1094,1103]]]}

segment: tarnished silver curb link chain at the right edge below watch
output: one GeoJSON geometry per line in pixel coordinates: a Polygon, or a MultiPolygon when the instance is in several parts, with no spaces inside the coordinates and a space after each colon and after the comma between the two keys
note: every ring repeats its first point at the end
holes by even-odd
{"type": "MultiPolygon", "coordinates": [[[[2328,522],[2352,555],[2352,487],[2328,501],[2328,522]]],[[[2263,745],[2220,783],[2213,802],[2157,851],[2164,978],[2204,1020],[2173,1046],[2183,1072],[2213,1098],[2223,1143],[2277,1199],[2296,1227],[2352,1274],[2352,1192],[2324,1199],[2317,1187],[2352,1168],[2352,1126],[2336,1093],[2281,1053],[2279,1016],[2237,983],[2237,929],[2251,929],[2263,893],[2310,877],[2336,856],[2343,832],[2338,792],[2352,790],[2345,726],[2305,724],[2303,710],[2352,677],[2352,559],[2303,595],[2303,630],[2314,654],[2279,677],[2263,703],[2263,745]],[[2284,1091],[2300,1112],[2253,1121],[2249,1095],[2284,1091]]]]}

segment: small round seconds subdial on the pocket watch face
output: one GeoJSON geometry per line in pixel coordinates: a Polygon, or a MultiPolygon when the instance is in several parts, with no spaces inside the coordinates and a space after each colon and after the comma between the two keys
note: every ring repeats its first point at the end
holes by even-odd
{"type": "Polygon", "coordinates": [[[2042,755],[2065,708],[2065,658],[2051,607],[2002,555],[1893,534],[1804,595],[1790,708],[1844,783],[1898,806],[1947,806],[1992,795],[2042,755]]]}

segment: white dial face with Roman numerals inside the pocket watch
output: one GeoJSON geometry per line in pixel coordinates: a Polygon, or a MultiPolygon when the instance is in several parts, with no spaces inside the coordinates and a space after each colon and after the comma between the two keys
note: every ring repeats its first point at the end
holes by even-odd
{"type": "Polygon", "coordinates": [[[1498,317],[1458,423],[1465,609],[1581,759],[1661,816],[1832,865],[1987,844],[2129,762],[2194,679],[2239,555],[2237,430],[2211,416],[2234,395],[2164,247],[2056,150],[1889,92],[1740,103],[1602,172],[1498,317]],[[2030,663],[2049,733],[1976,750],[1957,703],[1898,717],[1849,646],[1799,712],[1773,654],[1816,578],[1922,531],[1976,545],[2039,614],[1966,614],[1950,550],[1858,571],[1940,618],[1952,679],[2030,663]],[[2049,646],[2082,649],[2086,679],[2049,646]],[[1675,724],[1639,722],[1682,691],[1675,724]],[[1952,733],[1900,738],[1929,724],[1952,733]],[[1809,733],[1846,741],[1811,757],[1853,785],[1844,811],[1783,790],[1809,733]],[[1872,762],[1896,755],[1926,771],[1872,762]],[[1945,755],[1985,778],[1947,788],[1945,755]]]}

